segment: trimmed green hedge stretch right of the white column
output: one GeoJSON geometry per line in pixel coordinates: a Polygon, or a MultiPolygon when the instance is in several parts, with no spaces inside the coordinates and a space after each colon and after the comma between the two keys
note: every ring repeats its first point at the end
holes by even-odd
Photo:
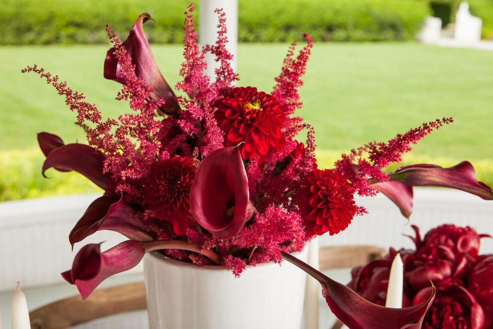
{"type": "Polygon", "coordinates": [[[291,41],[305,32],[317,41],[413,39],[430,13],[417,0],[240,1],[239,9],[240,40],[261,42],[291,41]]]}

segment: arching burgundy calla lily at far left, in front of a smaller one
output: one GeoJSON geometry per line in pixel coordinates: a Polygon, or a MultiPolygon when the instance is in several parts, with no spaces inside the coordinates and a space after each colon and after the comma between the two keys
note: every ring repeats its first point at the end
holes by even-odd
{"type": "Polygon", "coordinates": [[[52,150],[43,163],[42,174],[49,168],[75,171],[99,187],[106,189],[109,175],[103,173],[106,155],[83,144],[68,144],[52,150]]]}

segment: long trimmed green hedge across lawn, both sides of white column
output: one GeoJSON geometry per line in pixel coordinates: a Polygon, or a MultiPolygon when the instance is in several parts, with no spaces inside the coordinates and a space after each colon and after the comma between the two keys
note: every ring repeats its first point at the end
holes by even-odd
{"type": "MultiPolygon", "coordinates": [[[[2,0],[0,44],[106,43],[106,23],[124,38],[141,12],[156,20],[146,24],[152,42],[179,43],[189,2],[2,0]]],[[[316,41],[413,39],[429,14],[423,0],[239,0],[239,40],[290,42],[303,33],[316,41]]]]}

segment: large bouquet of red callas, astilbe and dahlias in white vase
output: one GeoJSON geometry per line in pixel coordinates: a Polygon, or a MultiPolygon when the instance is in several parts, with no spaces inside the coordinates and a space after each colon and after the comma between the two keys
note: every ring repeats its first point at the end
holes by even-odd
{"type": "Polygon", "coordinates": [[[289,253],[301,251],[315,235],[344,230],[364,213],[354,193],[381,191],[406,217],[413,185],[458,188],[493,199],[492,189],[476,181],[468,162],[382,171],[452,118],[425,123],[387,143],[370,143],[344,154],[334,169],[320,170],[313,128],[294,116],[302,108],[298,89],[312,38],[305,36],[307,44],[297,56],[294,43],[288,49],[271,94],[235,87],[238,76],[229,65],[224,13],[217,10],[216,43],[201,49],[192,12],[193,5],[184,24],[183,79],[176,84],[183,96],[176,96],[156,65],[143,33],[148,14],[137,19],[123,43],[107,27],[113,47],[104,76],[123,84],[117,100],[127,101],[132,110],[118,119],[103,120],[83,94],[58,76],[37,66],[23,70],[38,73],[65,96],[87,133],[89,145],[65,145],[56,135],[40,133],[43,175],[49,168],[76,171],[105,190],[70,232],[70,243],[103,229],[129,239],[105,252],[100,245],[86,245],[63,277],[86,298],[107,277],[132,268],[154,250],[199,266],[223,265],[235,275],[248,264],[284,258],[320,282],[332,311],[353,328],[377,328],[376,323],[378,328],[419,328],[434,290],[415,307],[382,310],[289,253]],[[208,51],[220,64],[215,80],[204,74],[208,51]],[[304,128],[308,133],[302,144],[295,137],[304,128]]]}

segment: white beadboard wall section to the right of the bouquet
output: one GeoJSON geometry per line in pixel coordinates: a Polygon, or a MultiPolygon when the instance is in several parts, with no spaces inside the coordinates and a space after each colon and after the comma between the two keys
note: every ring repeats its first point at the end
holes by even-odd
{"type": "MultiPolygon", "coordinates": [[[[415,188],[414,210],[409,221],[385,197],[357,198],[368,214],[355,217],[343,232],[319,238],[321,246],[368,244],[396,249],[413,248],[412,241],[403,236],[413,235],[411,224],[418,225],[422,236],[431,228],[444,223],[471,226],[478,233],[493,235],[493,201],[486,201],[466,192],[443,188],[415,188]]],[[[493,239],[481,239],[481,254],[493,254],[493,239]]]]}

